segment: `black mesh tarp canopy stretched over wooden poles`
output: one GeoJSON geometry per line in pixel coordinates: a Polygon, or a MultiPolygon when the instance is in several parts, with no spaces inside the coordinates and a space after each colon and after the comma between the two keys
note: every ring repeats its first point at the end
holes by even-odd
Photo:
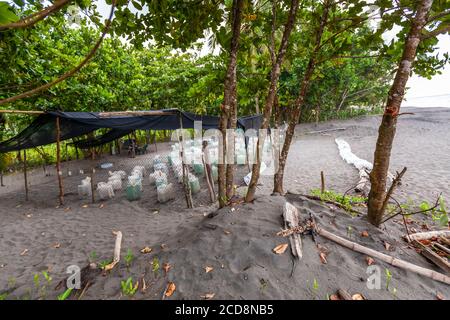
{"type": "MultiPolygon", "coordinates": [[[[134,130],[175,130],[194,128],[195,121],[202,122],[202,128],[217,129],[219,117],[197,115],[178,109],[159,110],[158,115],[118,115],[108,116],[99,112],[49,111],[39,115],[17,136],[0,143],[0,153],[19,151],[56,142],[56,118],[60,119],[61,141],[83,136],[98,129],[111,129],[93,140],[78,142],[80,147],[98,146],[123,137],[134,130]],[[181,119],[181,123],[180,123],[181,119]],[[84,146],[83,146],[84,144],[84,146]]],[[[255,115],[238,119],[238,127],[243,130],[259,129],[262,116],[255,115]]]]}

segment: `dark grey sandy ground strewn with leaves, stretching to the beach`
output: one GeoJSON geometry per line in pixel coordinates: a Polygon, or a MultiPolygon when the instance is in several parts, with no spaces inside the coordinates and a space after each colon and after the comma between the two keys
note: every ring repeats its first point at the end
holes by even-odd
{"type": "MultiPolygon", "coordinates": [[[[419,205],[424,200],[434,202],[442,193],[449,203],[450,109],[403,110],[414,114],[402,115],[398,123],[390,170],[407,167],[408,171],[396,196],[402,202],[419,205]]],[[[84,177],[80,169],[88,172],[99,163],[112,162],[114,170],[128,172],[136,164],[149,163],[155,153],[135,159],[108,156],[96,162],[64,163],[66,197],[61,207],[57,206],[54,168],[49,167],[50,176],[44,176],[42,169],[30,172],[28,202],[24,199],[23,174],[6,176],[6,187],[0,188],[0,294],[7,294],[8,299],[55,299],[62,290],[54,288],[66,277],[68,266],[82,268],[112,258],[112,231],[120,230],[122,261],[109,274],[98,276],[83,299],[129,299],[121,292],[121,281],[129,277],[139,281],[133,299],[161,299],[169,282],[176,284],[176,290],[167,299],[201,299],[208,294],[214,299],[326,299],[340,288],[367,299],[436,299],[437,294],[448,299],[449,286],[379,261],[375,264],[383,271],[382,288],[369,290],[366,257],[320,237],[316,241],[329,252],[327,264],[319,258],[317,243],[311,236],[304,236],[304,257],[292,277],[290,254],[272,252],[275,246],[287,242],[276,233],[283,226],[282,207],[288,200],[305,217],[313,212],[331,232],[439,271],[401,239],[405,230],[400,221],[394,219],[376,229],[364,217],[352,217],[295,195],[319,188],[321,171],[330,190],[343,193],[355,185],[358,172],[340,158],[334,140],[345,139],[357,156],[372,161],[379,124],[379,116],[365,116],[299,125],[286,167],[285,191],[289,194],[270,196],[272,178],[262,177],[255,203],[219,211],[209,205],[204,180],[201,192],[194,195],[193,210],[185,209],[181,185],[175,181],[177,197],[166,204],[157,202],[156,190],[147,179],[143,197],[136,202],[129,202],[123,194],[95,204],[79,198],[76,188],[84,177]],[[314,133],[333,128],[343,130],[314,133]],[[209,218],[213,212],[214,217],[209,218]],[[361,237],[363,231],[369,237],[361,237]],[[152,252],[142,254],[144,247],[152,252]],[[123,261],[128,250],[134,256],[129,266],[123,261]],[[170,265],[167,272],[165,263],[170,265]],[[386,268],[392,274],[389,288],[384,278],[386,268]],[[52,280],[45,280],[42,271],[52,280]],[[39,284],[34,281],[36,274],[41,274],[39,284]]],[[[168,144],[158,146],[159,153],[167,150],[168,144]]],[[[239,167],[237,184],[247,172],[246,166],[239,167]]],[[[98,169],[96,181],[106,178],[107,171],[98,169]]],[[[424,230],[424,219],[427,227],[435,227],[424,217],[412,219],[411,227],[424,230]]]]}

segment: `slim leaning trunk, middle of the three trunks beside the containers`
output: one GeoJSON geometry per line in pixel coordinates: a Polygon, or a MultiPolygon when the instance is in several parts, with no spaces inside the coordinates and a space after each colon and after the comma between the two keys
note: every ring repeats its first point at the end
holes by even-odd
{"type": "MultiPolygon", "coordinates": [[[[281,65],[284,61],[284,56],[286,55],[286,50],[289,42],[289,37],[291,35],[292,29],[294,28],[295,19],[297,17],[297,11],[299,7],[299,0],[292,0],[291,7],[289,10],[289,17],[285,24],[283,31],[283,38],[281,40],[280,48],[276,57],[275,64],[272,64],[272,70],[270,72],[270,87],[266,98],[263,111],[263,120],[261,124],[261,130],[266,130],[269,127],[270,118],[272,116],[272,108],[275,101],[275,96],[277,92],[278,80],[281,73],[281,65]]],[[[263,141],[264,142],[264,141],[263,141]]],[[[258,139],[256,154],[257,161],[252,167],[252,178],[248,186],[248,192],[245,197],[246,202],[251,202],[255,198],[256,186],[259,180],[259,171],[261,169],[261,159],[260,159],[260,141],[258,139]]]]}

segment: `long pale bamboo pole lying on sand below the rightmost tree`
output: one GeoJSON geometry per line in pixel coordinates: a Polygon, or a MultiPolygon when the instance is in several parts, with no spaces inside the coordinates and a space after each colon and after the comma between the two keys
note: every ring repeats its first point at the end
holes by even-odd
{"type": "Polygon", "coordinates": [[[333,242],[336,242],[337,244],[340,244],[341,246],[349,248],[349,249],[351,249],[353,251],[356,251],[356,252],[359,252],[359,253],[362,253],[362,254],[366,254],[366,255],[371,256],[373,258],[376,258],[378,260],[381,260],[381,261],[384,261],[386,263],[389,263],[389,264],[391,264],[391,265],[393,265],[395,267],[402,268],[402,269],[405,269],[405,270],[408,270],[408,271],[412,271],[412,272],[415,272],[417,274],[429,277],[429,278],[431,278],[433,280],[440,281],[440,282],[443,282],[443,283],[446,283],[446,284],[450,285],[450,277],[445,275],[445,274],[436,272],[434,270],[426,269],[426,268],[414,265],[414,264],[412,264],[410,262],[406,262],[406,261],[394,258],[392,256],[389,256],[387,254],[378,252],[376,250],[364,247],[364,246],[362,246],[360,244],[357,244],[355,242],[352,242],[352,241],[349,241],[347,239],[341,238],[341,237],[339,237],[339,236],[337,236],[337,235],[335,235],[335,234],[333,234],[333,233],[331,233],[329,231],[326,231],[325,229],[322,229],[321,227],[318,227],[318,226],[316,226],[316,232],[319,235],[321,235],[322,237],[327,238],[328,240],[331,240],[333,242]]]}

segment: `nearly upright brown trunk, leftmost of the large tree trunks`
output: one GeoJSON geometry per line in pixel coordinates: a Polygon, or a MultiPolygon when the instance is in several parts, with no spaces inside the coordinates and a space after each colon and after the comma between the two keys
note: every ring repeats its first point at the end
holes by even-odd
{"type": "MultiPolygon", "coordinates": [[[[237,54],[239,48],[239,37],[241,34],[241,15],[243,0],[233,0],[231,9],[231,23],[233,35],[230,47],[230,60],[228,62],[227,73],[225,76],[223,104],[219,120],[219,130],[222,133],[221,159],[219,159],[219,206],[222,208],[227,205],[228,199],[233,195],[234,183],[234,161],[233,164],[226,164],[227,157],[227,127],[236,128],[237,121],[237,101],[236,101],[236,68],[237,54]],[[222,160],[222,161],[220,161],[222,160]]],[[[234,147],[234,143],[232,143],[234,147]]]]}

